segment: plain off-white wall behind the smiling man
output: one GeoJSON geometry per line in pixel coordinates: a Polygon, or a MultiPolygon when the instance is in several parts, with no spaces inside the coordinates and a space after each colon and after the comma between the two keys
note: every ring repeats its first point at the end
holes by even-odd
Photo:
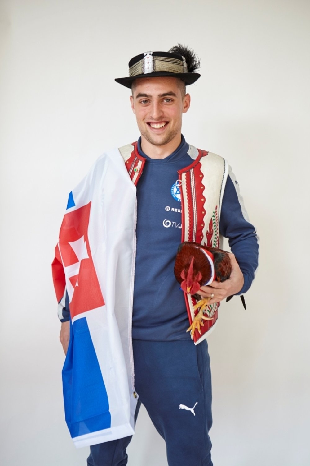
{"type": "MultiPolygon", "coordinates": [[[[227,158],[261,237],[246,296],[209,338],[215,466],[310,464],[307,0],[0,3],[0,463],[78,466],[62,406],[50,263],[68,192],[139,136],[113,81],[145,50],[189,44],[186,139],[227,158]]],[[[165,466],[141,411],[129,466],[165,466]]],[[[184,465],[192,466],[192,465],[184,465]]]]}

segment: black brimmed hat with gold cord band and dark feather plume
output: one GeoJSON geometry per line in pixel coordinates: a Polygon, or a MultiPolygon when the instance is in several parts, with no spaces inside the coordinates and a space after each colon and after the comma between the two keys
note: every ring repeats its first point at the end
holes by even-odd
{"type": "Polygon", "coordinates": [[[178,44],[169,52],[145,52],[133,57],[129,65],[129,76],[116,78],[115,81],[131,89],[132,82],[138,78],[152,78],[153,76],[171,76],[182,79],[186,85],[192,84],[200,77],[194,73],[199,68],[198,57],[191,49],[178,44]]]}

